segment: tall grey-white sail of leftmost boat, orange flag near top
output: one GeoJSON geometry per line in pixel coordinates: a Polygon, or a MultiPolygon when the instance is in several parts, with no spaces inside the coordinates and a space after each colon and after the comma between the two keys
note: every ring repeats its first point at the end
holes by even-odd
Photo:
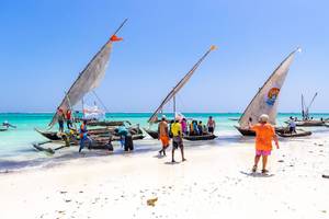
{"type": "MultiPolygon", "coordinates": [[[[75,106],[82,97],[99,87],[100,82],[104,78],[105,70],[109,64],[110,54],[112,50],[112,42],[121,41],[122,38],[116,37],[116,33],[122,28],[125,20],[112,37],[103,45],[101,50],[91,59],[83,71],[79,74],[78,79],[73,82],[66,96],[63,99],[58,107],[66,112],[70,106],[75,106]]],[[[49,127],[53,127],[57,122],[57,112],[54,115],[49,127]]]]}

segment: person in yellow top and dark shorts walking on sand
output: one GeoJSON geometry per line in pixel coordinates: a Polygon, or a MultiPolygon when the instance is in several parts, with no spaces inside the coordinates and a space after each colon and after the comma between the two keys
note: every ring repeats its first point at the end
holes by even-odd
{"type": "Polygon", "coordinates": [[[177,118],[173,124],[171,124],[171,132],[172,132],[172,151],[171,151],[171,162],[174,161],[174,150],[180,148],[182,154],[182,161],[185,161],[184,158],[184,146],[183,146],[183,138],[182,138],[182,125],[180,124],[179,119],[177,118]]]}

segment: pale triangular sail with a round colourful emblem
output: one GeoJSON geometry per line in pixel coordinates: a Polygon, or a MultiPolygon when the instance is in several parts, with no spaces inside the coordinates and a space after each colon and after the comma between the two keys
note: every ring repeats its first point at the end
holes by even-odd
{"type": "Polygon", "coordinates": [[[291,53],[274,70],[263,87],[258,91],[239,119],[241,128],[248,127],[250,118],[251,124],[258,123],[258,119],[262,114],[268,114],[270,117],[269,123],[275,125],[280,90],[284,83],[296,51],[300,51],[300,49],[297,48],[291,53]]]}

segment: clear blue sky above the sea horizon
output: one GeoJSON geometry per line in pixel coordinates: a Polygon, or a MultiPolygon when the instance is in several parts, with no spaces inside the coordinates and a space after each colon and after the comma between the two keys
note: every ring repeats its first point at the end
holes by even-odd
{"type": "Polygon", "coordinates": [[[319,92],[313,111],[328,112],[328,8],[325,0],[2,0],[0,112],[54,111],[125,18],[97,89],[112,112],[154,111],[212,44],[219,49],[180,92],[180,111],[242,112],[300,46],[280,111],[298,112],[300,93],[319,92]]]}

